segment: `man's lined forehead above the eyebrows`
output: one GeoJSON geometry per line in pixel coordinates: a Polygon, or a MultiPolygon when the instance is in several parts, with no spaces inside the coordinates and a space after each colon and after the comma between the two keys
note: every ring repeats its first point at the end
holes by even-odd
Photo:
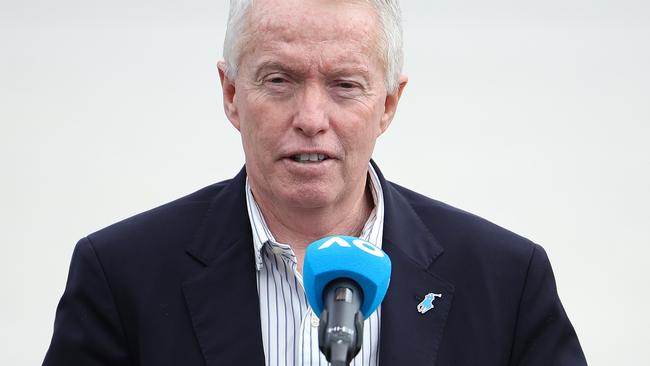
{"type": "Polygon", "coordinates": [[[377,15],[366,1],[255,1],[249,21],[249,42],[242,54],[312,56],[337,64],[368,64],[379,58],[377,15]]]}

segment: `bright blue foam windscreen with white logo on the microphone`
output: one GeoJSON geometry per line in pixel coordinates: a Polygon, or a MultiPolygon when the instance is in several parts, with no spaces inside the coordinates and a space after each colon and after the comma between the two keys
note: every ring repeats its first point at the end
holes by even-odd
{"type": "Polygon", "coordinates": [[[390,258],[373,244],[352,236],[329,236],[307,247],[303,284],[307,301],[320,316],[323,290],[337,278],[349,278],[363,291],[361,313],[368,318],[381,304],[390,282],[390,258]]]}

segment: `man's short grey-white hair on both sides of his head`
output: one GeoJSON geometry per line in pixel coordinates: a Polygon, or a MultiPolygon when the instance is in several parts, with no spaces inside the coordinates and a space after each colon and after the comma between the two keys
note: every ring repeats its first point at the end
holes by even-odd
{"type": "MultiPolygon", "coordinates": [[[[399,77],[404,64],[402,40],[402,13],[398,0],[366,0],[379,18],[380,58],[386,72],[386,90],[389,94],[397,91],[399,77]]],[[[248,14],[253,0],[230,0],[230,13],[226,37],[223,42],[223,58],[226,75],[231,80],[237,76],[240,53],[247,38],[248,14]]]]}

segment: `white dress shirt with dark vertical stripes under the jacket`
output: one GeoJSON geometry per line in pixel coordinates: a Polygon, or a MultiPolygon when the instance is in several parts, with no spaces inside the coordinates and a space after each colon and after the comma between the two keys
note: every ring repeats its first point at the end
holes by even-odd
{"type": "MultiPolygon", "coordinates": [[[[379,178],[372,165],[369,165],[368,177],[375,207],[363,227],[361,238],[381,248],[384,199],[379,178]]],[[[288,244],[279,243],[273,237],[253,197],[248,179],[246,204],[253,231],[266,365],[329,365],[318,349],[318,316],[307,303],[302,275],[297,270],[296,255],[288,244]]],[[[378,364],[380,316],[381,309],[377,308],[365,320],[363,347],[350,365],[378,364]]]]}

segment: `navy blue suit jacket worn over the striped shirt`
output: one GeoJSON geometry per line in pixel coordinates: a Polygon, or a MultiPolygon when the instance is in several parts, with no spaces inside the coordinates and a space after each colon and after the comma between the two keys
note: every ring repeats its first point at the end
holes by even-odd
{"type": "MultiPolygon", "coordinates": [[[[44,365],[264,365],[245,177],[82,239],[44,365]]],[[[586,365],[540,246],[379,177],[380,365],[586,365]]]]}

